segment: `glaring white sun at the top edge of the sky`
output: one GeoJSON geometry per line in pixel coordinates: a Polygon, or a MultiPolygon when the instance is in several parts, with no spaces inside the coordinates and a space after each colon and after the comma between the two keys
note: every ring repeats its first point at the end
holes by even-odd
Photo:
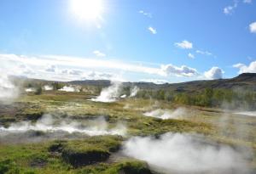
{"type": "Polygon", "coordinates": [[[70,0],[70,9],[79,20],[98,20],[103,3],[102,0],[70,0]]]}

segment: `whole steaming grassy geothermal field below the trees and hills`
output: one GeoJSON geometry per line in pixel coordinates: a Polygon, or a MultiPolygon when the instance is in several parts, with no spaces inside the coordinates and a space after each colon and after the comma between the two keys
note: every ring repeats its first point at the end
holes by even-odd
{"type": "Polygon", "coordinates": [[[154,97],[139,83],[5,82],[0,173],[256,171],[255,111],[232,109],[235,99],[199,106],[154,97]]]}

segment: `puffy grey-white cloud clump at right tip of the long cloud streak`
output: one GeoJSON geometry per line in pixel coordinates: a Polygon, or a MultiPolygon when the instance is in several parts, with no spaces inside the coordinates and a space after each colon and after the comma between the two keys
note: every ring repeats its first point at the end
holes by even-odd
{"type": "Polygon", "coordinates": [[[162,65],[161,70],[166,76],[197,76],[199,73],[197,70],[190,68],[186,65],[182,65],[181,67],[177,67],[175,65],[162,65]]]}

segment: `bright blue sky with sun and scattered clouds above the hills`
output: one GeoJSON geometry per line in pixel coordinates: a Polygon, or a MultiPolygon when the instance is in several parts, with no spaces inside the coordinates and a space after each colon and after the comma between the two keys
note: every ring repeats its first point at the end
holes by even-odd
{"type": "Polygon", "coordinates": [[[155,83],[256,72],[256,0],[1,0],[0,72],[155,83]]]}

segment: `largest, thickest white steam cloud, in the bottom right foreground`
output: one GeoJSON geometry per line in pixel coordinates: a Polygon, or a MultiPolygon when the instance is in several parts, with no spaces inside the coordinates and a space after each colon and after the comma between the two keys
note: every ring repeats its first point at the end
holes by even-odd
{"type": "Polygon", "coordinates": [[[131,138],[124,145],[124,153],[164,173],[247,173],[245,161],[236,150],[203,143],[189,134],[131,138]]]}

